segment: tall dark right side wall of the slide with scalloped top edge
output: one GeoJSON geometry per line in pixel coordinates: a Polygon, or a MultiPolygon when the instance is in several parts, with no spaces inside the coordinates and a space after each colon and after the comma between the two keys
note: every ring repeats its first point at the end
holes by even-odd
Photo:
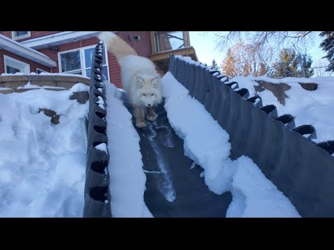
{"type": "Polygon", "coordinates": [[[333,140],[313,142],[311,124],[294,128],[292,115],[278,117],[276,106],[262,106],[261,97],[250,97],[205,65],[170,55],[168,70],[228,132],[232,160],[251,158],[302,217],[334,217],[333,140]]]}

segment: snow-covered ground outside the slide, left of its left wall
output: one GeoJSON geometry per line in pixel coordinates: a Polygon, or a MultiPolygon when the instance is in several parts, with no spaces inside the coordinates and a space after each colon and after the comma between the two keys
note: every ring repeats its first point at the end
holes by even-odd
{"type": "Polygon", "coordinates": [[[79,118],[89,91],[29,90],[0,94],[0,217],[82,217],[86,152],[79,118]],[[56,112],[58,124],[40,108],[56,112]]]}

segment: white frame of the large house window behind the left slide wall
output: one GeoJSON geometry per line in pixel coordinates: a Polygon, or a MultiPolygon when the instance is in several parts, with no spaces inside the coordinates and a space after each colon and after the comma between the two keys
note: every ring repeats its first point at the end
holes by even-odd
{"type": "MultiPolygon", "coordinates": [[[[87,76],[86,75],[86,56],[85,56],[85,49],[91,49],[91,48],[95,48],[96,45],[91,45],[91,46],[87,46],[87,47],[81,47],[81,48],[77,48],[77,49],[70,49],[68,51],[61,51],[58,53],[58,69],[60,73],[65,73],[65,74],[74,74],[76,72],[78,72],[79,70],[81,70],[81,76],[87,76]],[[75,69],[72,70],[70,72],[63,72],[61,69],[61,54],[63,53],[70,53],[72,51],[79,51],[80,53],[80,67],[81,69],[75,69]]],[[[106,51],[106,46],[104,46],[104,55],[106,56],[106,63],[104,65],[102,65],[102,67],[106,66],[107,73],[108,73],[108,79],[110,81],[110,72],[109,72],[109,60],[108,60],[108,53],[106,51]]],[[[90,77],[90,76],[87,76],[90,77]]]]}

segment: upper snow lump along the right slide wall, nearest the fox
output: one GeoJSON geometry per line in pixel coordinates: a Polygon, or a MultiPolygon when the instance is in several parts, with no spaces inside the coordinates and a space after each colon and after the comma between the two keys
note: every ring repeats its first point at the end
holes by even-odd
{"type": "Polygon", "coordinates": [[[186,88],[170,72],[162,78],[162,86],[168,121],[184,140],[185,155],[204,169],[206,183],[215,183],[210,190],[217,194],[228,191],[234,174],[228,160],[231,148],[228,133],[200,102],[184,95],[188,93],[186,88]]]}

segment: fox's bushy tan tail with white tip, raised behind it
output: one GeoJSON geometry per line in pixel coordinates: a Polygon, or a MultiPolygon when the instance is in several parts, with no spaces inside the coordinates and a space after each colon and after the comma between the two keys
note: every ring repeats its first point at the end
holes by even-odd
{"type": "Polygon", "coordinates": [[[117,60],[121,60],[125,56],[134,55],[137,56],[136,51],[130,47],[125,40],[122,40],[118,35],[110,31],[104,31],[98,36],[100,40],[103,40],[106,49],[113,53],[117,60]]]}

